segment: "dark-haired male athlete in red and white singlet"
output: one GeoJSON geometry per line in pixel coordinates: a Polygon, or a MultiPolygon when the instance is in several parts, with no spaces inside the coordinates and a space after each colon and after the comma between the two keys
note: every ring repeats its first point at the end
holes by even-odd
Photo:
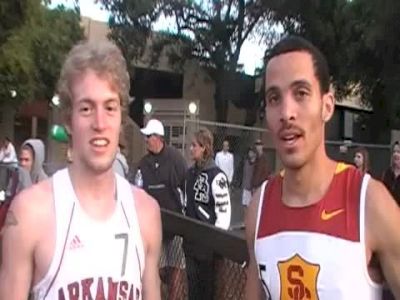
{"type": "Polygon", "coordinates": [[[275,45],[265,102],[284,172],[249,207],[247,299],[381,299],[373,257],[400,299],[400,210],[382,183],[327,156],[335,100],[322,53],[299,37],[275,45]]]}

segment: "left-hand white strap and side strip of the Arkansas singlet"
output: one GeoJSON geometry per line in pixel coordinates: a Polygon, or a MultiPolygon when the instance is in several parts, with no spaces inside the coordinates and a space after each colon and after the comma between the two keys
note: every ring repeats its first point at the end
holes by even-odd
{"type": "Polygon", "coordinates": [[[56,243],[55,251],[48,273],[44,279],[49,280],[43,299],[51,290],[52,285],[60,271],[64,252],[67,246],[72,216],[75,210],[75,192],[72,187],[68,169],[62,169],[53,175],[53,199],[56,218],[56,243]]]}

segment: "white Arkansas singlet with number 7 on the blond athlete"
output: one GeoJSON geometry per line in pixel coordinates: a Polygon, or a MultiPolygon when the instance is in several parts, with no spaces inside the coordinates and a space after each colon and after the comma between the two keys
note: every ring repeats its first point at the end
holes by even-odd
{"type": "Polygon", "coordinates": [[[140,300],[144,249],[132,189],[116,174],[114,214],[105,222],[81,208],[67,169],[54,174],[56,246],[35,300],[140,300]]]}

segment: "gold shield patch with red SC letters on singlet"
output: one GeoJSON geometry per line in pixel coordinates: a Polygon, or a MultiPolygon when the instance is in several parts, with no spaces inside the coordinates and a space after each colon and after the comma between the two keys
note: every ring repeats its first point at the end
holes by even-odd
{"type": "Polygon", "coordinates": [[[281,280],[280,300],[319,300],[317,292],[320,265],[296,254],[278,263],[281,280]]]}

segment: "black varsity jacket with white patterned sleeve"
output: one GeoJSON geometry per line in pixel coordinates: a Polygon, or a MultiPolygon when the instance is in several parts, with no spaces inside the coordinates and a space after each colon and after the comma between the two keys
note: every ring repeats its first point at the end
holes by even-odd
{"type": "Polygon", "coordinates": [[[185,185],[186,215],[228,229],[231,220],[231,201],[228,178],[213,160],[199,169],[188,170],[185,185]]]}

